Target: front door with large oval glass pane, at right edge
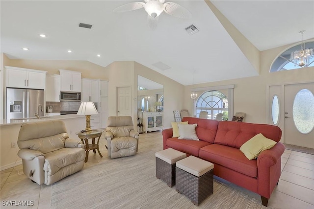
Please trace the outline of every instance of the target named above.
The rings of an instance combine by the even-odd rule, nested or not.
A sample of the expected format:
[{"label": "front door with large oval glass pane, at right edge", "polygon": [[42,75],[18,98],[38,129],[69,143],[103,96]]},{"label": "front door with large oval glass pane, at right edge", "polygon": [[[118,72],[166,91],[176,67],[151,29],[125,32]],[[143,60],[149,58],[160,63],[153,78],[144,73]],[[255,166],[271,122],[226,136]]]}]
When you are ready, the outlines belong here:
[{"label": "front door with large oval glass pane, at right edge", "polygon": [[285,85],[285,143],[314,148],[314,83]]}]

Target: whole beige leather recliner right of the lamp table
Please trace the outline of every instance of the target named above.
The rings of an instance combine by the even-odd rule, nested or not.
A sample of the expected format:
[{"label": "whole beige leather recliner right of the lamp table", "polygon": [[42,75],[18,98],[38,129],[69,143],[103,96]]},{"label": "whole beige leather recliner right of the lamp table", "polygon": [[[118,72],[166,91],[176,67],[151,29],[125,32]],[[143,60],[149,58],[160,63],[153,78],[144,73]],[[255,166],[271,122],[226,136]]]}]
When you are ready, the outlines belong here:
[{"label": "whole beige leather recliner right of the lamp table", "polygon": [[110,158],[120,158],[136,154],[139,134],[133,130],[131,116],[108,117],[105,130],[108,156]]}]

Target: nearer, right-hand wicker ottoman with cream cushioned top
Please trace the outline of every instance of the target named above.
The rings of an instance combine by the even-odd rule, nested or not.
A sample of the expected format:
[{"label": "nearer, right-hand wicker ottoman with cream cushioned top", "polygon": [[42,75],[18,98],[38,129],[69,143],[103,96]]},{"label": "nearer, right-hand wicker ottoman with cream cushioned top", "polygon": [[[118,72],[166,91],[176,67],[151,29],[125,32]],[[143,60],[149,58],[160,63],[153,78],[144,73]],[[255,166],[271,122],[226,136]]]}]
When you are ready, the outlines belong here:
[{"label": "nearer, right-hand wicker ottoman with cream cushioned top", "polygon": [[176,163],[176,190],[199,205],[213,193],[214,164],[189,156]]}]

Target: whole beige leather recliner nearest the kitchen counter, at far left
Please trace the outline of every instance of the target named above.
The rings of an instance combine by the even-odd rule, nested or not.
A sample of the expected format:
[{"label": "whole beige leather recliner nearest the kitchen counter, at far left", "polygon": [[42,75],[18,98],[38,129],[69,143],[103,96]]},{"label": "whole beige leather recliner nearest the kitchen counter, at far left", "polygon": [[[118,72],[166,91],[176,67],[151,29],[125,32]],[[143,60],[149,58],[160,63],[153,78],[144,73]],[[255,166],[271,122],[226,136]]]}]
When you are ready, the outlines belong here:
[{"label": "whole beige leather recliner nearest the kitchen counter, at far left", "polygon": [[39,185],[51,185],[84,166],[84,145],[69,139],[62,120],[22,124],[18,146],[24,174]]}]

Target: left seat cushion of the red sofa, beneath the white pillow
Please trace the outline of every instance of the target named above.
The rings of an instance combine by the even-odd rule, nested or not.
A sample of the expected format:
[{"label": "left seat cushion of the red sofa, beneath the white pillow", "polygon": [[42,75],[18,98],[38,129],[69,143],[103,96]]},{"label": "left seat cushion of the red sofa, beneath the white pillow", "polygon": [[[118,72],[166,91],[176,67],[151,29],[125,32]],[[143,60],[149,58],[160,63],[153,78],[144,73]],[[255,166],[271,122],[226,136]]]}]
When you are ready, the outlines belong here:
[{"label": "left seat cushion of the red sofa, beneath the white pillow", "polygon": [[187,153],[189,155],[198,156],[199,149],[201,147],[207,146],[211,143],[206,141],[195,141],[195,140],[182,140],[178,138],[170,138],[167,139],[167,147],[171,147],[173,149],[176,149],[178,151]]}]

